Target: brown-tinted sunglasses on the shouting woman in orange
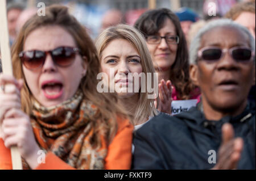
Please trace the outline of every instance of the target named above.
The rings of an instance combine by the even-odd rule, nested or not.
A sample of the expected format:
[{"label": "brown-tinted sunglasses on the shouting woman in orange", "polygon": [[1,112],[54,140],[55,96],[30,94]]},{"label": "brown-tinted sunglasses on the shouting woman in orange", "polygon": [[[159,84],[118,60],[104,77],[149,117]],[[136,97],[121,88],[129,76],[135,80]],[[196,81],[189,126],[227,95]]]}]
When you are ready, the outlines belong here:
[{"label": "brown-tinted sunglasses on the shouting woman in orange", "polygon": [[61,67],[67,67],[75,60],[76,53],[80,53],[79,48],[73,47],[57,47],[53,50],[28,50],[19,53],[19,58],[27,69],[35,70],[41,68],[46,61],[46,56],[49,53],[53,62]]}]

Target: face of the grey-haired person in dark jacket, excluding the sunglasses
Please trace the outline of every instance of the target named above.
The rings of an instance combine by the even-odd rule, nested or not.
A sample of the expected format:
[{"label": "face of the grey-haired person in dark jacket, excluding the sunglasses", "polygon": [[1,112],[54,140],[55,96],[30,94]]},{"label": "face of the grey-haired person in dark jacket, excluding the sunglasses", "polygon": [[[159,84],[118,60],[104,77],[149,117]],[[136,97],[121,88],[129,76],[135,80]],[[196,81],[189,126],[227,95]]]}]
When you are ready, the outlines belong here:
[{"label": "face of the grey-haired person in dark jacket, excluding the sunglasses", "polygon": [[[249,37],[229,27],[214,28],[205,33],[201,39],[201,48],[209,46],[221,49],[250,48]],[[203,104],[227,112],[246,106],[249,90],[255,84],[255,65],[252,59],[235,61],[226,52],[218,61],[209,62],[199,58],[192,69],[196,70],[192,79],[201,88]]]}]

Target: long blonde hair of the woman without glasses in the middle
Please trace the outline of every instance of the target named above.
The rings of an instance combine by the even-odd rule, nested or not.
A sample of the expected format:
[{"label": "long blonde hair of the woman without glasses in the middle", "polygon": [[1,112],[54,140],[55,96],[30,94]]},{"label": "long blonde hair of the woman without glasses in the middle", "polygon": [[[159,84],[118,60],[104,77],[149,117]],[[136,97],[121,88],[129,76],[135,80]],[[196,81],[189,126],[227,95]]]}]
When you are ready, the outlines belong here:
[{"label": "long blonde hair of the woman without glasses in the middle", "polygon": [[[109,27],[97,37],[96,48],[100,59],[102,51],[108,46],[110,41],[115,39],[127,40],[137,49],[139,56],[141,56],[142,72],[151,73],[151,77],[153,78],[155,69],[152,64],[150,52],[148,52],[146,42],[144,41],[141,33],[131,26],[119,24],[115,27]],[[153,81],[154,79],[152,79],[151,85],[154,85]],[[157,87],[154,87],[154,89],[157,89]],[[139,92],[139,101],[135,115],[130,115],[133,117],[132,122],[134,125],[144,123],[148,117],[152,117],[157,114],[154,107],[154,99],[148,99],[148,95],[149,93],[147,90],[146,92]]]}]

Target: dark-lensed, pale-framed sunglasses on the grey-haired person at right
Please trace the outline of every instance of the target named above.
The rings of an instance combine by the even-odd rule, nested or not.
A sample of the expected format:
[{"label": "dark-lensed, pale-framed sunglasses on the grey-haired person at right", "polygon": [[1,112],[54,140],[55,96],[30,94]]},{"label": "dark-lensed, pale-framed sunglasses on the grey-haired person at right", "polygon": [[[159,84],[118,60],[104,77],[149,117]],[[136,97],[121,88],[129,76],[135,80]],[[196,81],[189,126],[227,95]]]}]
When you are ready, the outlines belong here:
[{"label": "dark-lensed, pale-framed sunglasses on the grey-haired person at right", "polygon": [[230,56],[237,62],[250,61],[254,56],[254,51],[248,47],[233,47],[230,49],[221,49],[219,47],[205,47],[199,50],[197,56],[206,61],[218,61],[224,56],[226,52],[229,52]]}]

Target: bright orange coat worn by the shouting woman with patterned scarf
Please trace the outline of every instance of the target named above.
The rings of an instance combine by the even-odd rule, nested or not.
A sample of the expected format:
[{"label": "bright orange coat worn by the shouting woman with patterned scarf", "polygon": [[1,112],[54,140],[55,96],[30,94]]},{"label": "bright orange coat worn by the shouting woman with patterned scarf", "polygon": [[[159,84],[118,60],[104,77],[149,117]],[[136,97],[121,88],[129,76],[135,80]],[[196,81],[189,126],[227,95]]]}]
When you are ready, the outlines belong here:
[{"label": "bright orange coat worn by the shouting woman with patterned scarf", "polygon": [[[108,155],[105,158],[105,169],[107,170],[127,170],[131,167],[131,144],[133,139],[133,125],[129,120],[118,121],[118,131],[108,148]],[[10,170],[11,153],[0,138],[0,170]],[[46,154],[46,163],[40,163],[36,170],[73,170],[59,157],[49,151]]]}]

